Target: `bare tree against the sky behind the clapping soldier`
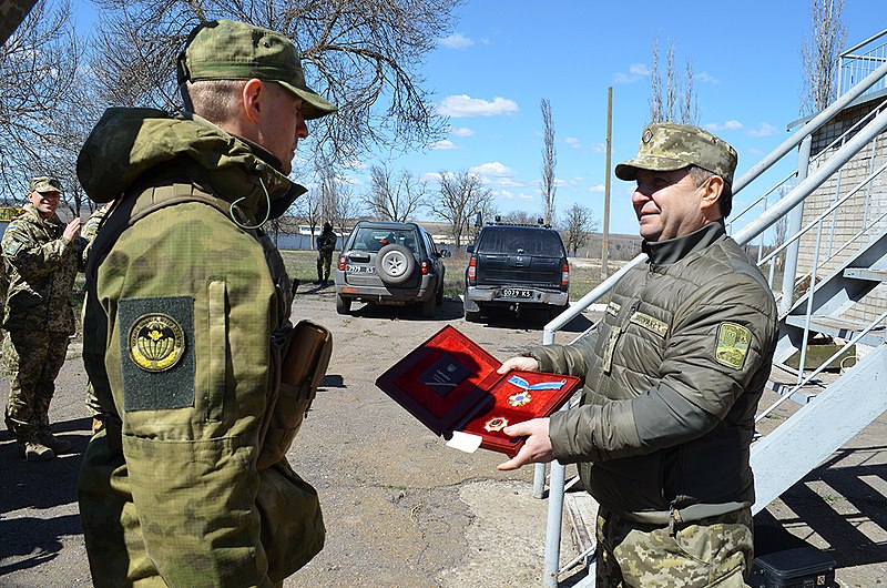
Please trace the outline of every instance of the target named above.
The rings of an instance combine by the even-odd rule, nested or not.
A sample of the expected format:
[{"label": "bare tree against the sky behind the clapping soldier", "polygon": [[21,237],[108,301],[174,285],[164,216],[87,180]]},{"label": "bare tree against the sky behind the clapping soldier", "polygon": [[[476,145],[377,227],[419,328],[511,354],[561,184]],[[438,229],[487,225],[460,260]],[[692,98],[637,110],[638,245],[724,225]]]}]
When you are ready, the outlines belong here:
[{"label": "bare tree against the sky behind the clapping soldier", "polygon": [[[0,47],[0,194],[18,201],[28,179],[53,175],[67,207],[79,212],[82,193],[74,161],[88,130],[79,80],[82,47],[67,0],[38,2]],[[72,197],[73,196],[73,197]]]}]

